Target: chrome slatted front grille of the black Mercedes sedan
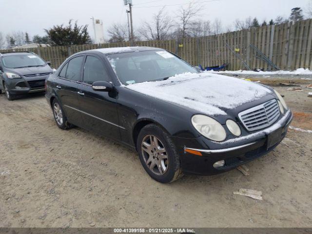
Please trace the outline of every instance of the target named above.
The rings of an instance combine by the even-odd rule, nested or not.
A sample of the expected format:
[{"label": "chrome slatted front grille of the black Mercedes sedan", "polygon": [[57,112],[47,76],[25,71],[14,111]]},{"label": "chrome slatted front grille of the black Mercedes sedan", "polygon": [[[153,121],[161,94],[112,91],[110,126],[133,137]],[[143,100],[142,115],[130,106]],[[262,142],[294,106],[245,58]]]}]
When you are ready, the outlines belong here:
[{"label": "chrome slatted front grille of the black Mercedes sedan", "polygon": [[256,131],[272,125],[279,113],[277,101],[273,99],[239,113],[238,117],[248,131]]}]

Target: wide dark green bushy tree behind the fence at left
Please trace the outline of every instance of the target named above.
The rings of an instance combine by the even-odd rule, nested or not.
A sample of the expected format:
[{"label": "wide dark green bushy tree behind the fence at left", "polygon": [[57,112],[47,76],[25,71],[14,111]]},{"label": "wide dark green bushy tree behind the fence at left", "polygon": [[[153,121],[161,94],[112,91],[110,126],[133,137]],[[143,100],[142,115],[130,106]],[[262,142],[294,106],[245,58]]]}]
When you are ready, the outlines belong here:
[{"label": "wide dark green bushy tree behind the fence at left", "polygon": [[45,29],[45,32],[51,45],[82,45],[92,42],[88,33],[88,25],[78,26],[77,21],[72,25],[72,20],[69,20],[68,26],[56,25]]}]

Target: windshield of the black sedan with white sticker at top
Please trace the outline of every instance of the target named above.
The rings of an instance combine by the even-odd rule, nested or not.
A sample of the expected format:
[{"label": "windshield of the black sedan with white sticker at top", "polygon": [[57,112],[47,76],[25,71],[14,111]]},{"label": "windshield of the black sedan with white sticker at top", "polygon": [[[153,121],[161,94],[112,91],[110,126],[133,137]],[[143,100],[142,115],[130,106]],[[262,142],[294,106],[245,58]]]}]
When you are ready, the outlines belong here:
[{"label": "windshield of the black sedan with white sticker at top", "polygon": [[125,84],[163,80],[198,71],[187,62],[165,51],[139,51],[107,55],[117,77]]}]

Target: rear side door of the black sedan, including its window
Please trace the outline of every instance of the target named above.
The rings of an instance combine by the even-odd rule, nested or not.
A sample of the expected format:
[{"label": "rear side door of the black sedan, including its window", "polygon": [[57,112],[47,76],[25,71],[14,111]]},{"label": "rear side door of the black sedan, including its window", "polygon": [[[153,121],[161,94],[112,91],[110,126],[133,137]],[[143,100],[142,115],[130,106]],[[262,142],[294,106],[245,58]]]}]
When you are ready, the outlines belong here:
[{"label": "rear side door of the black sedan, including its window", "polygon": [[56,93],[61,102],[62,108],[68,121],[72,124],[81,126],[82,117],[79,112],[78,82],[81,80],[81,68],[84,56],[77,56],[70,59],[61,69]]}]

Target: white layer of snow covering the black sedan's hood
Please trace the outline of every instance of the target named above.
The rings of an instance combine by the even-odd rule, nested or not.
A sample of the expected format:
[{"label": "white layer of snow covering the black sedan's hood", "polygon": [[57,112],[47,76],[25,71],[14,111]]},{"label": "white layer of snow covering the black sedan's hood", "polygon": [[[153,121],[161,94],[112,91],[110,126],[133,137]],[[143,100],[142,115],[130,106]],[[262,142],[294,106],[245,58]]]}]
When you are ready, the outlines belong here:
[{"label": "white layer of snow covering the black sedan's hood", "polygon": [[234,109],[272,93],[268,88],[251,81],[203,73],[184,73],[167,80],[130,84],[125,87],[210,116],[226,115],[220,108]]}]

